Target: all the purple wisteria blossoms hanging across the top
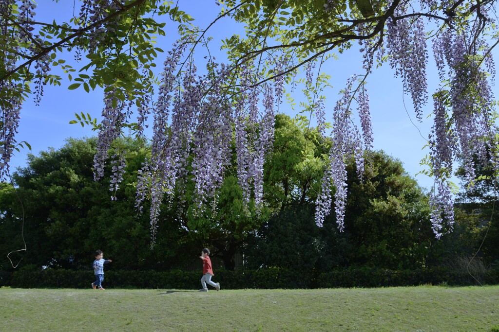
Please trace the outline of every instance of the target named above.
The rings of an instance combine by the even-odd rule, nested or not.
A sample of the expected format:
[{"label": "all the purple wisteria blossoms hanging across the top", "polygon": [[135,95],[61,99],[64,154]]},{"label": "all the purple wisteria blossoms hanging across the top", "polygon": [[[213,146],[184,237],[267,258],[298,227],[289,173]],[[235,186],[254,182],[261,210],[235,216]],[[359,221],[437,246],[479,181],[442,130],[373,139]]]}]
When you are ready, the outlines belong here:
[{"label": "all the purple wisteria blossoms hanging across the top", "polygon": [[[236,15],[238,10],[246,14],[243,9],[250,5],[248,1],[215,2],[227,5],[230,9],[226,11],[228,16]],[[286,2],[281,1],[280,5]],[[139,14],[139,10],[143,10],[146,5],[155,11],[164,10],[153,0],[83,0],[81,3],[74,29],[83,29],[85,33],[76,34],[74,42],[66,45],[76,50],[76,57],[80,60],[82,54],[98,52],[99,45],[110,46],[110,42],[117,40],[109,37],[118,27],[120,16],[117,13],[131,8]],[[432,104],[428,103],[430,92],[426,76],[429,58],[427,44],[431,43],[440,77],[439,88],[432,92],[435,122],[428,138],[429,165],[431,175],[436,179],[430,201],[431,220],[437,237],[452,230],[454,217],[448,179],[452,175],[453,162],[456,159],[463,162],[470,183],[475,178],[475,155],[480,162],[492,163],[495,167],[498,165],[492,90],[495,67],[491,52],[498,44],[495,3],[495,0],[377,1],[373,3],[376,11],[374,16],[361,17],[356,14],[355,8],[351,8],[354,16],[347,18],[344,17],[346,13],[340,10],[343,5],[341,1],[324,0],[320,10],[330,15],[332,20],[349,25],[334,33],[324,31],[324,36],[329,37],[321,39],[318,36],[313,42],[320,44],[319,41],[323,40],[323,44],[316,49],[327,50],[331,44],[339,47],[358,40],[364,56],[365,73],[352,76],[347,81],[331,112],[332,116],[327,116],[322,97],[317,96],[313,105],[319,131],[324,131],[326,121],[332,122],[330,135],[333,141],[317,199],[318,225],[322,224],[334,206],[338,227],[344,227],[348,191],[345,164],[348,158],[355,159],[358,176],[362,178],[363,154],[372,146],[367,81],[375,61],[379,64],[389,62],[395,76],[402,79],[404,91],[411,96],[417,118],[422,118],[427,105]],[[292,8],[292,3],[287,6]],[[30,0],[0,0],[1,33],[17,43],[12,46],[3,39],[0,42],[3,51],[0,59],[4,66],[0,73],[2,180],[8,173],[10,158],[17,143],[15,133],[24,95],[33,94],[34,100],[40,101],[52,64],[45,52],[47,47],[41,43],[40,35],[35,33],[35,8],[34,2]],[[275,11],[272,17],[278,19],[277,13]],[[111,17],[113,19],[107,19]],[[98,20],[105,24],[92,23]],[[429,26],[432,32],[427,31]],[[153,241],[160,204],[165,194],[171,197],[176,192],[182,201],[186,181],[194,181],[196,213],[202,213],[210,201],[216,202],[225,169],[231,163],[233,134],[237,174],[244,200],[246,204],[254,200],[256,207],[263,204],[263,163],[271,149],[273,118],[283,100],[284,80],[295,74],[295,69],[308,63],[305,74],[306,80],[311,81],[314,68],[311,64],[322,53],[317,52],[296,65],[290,58],[291,53],[286,53],[290,45],[265,49],[263,42],[258,51],[260,53],[255,54],[260,54],[260,59],[265,52],[270,55],[265,58],[266,65],[272,67],[270,77],[261,74],[260,63],[252,55],[253,52],[242,54],[238,61],[225,65],[208,59],[209,73],[200,75],[192,53],[186,58],[186,50],[196,44],[195,38],[186,37],[168,53],[155,104],[148,91],[140,90],[144,89],[140,85],[128,91],[109,86],[104,98],[99,147],[94,159],[96,179],[103,175],[112,141],[119,136],[124,123],[128,121],[131,104],[127,98],[134,94],[142,96],[137,103],[139,131],[143,131],[151,113],[154,118],[152,156],[139,171],[137,184],[137,207],[141,209],[144,199],[151,200]],[[295,47],[301,45],[308,45],[307,41],[297,42]],[[111,47],[102,49],[107,56],[114,56]],[[23,59],[31,59],[29,63],[34,63],[33,69],[27,68],[30,76],[16,76],[21,72],[16,67],[17,62]],[[141,67],[144,73],[147,67]],[[34,88],[30,87],[30,81]],[[351,119],[355,106],[361,119],[360,128]],[[124,172],[122,151],[115,151],[112,159],[110,189],[116,191]]]}]

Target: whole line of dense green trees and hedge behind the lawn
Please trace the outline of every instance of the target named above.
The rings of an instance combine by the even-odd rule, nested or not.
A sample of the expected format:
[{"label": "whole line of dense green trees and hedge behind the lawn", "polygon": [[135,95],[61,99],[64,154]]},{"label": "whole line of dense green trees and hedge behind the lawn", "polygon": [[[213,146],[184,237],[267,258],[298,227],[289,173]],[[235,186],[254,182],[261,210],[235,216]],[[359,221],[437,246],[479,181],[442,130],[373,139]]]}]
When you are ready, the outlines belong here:
[{"label": "whole line of dense green trees and hedge behind the lawn", "polygon": [[[259,287],[264,276],[274,278],[273,273],[280,273],[278,279],[289,285],[294,285],[294,277],[284,277],[286,273],[310,278],[303,283],[305,288],[474,283],[469,275],[497,282],[497,273],[491,271],[496,271],[499,262],[499,231],[497,221],[490,219],[495,216],[491,202],[485,199],[472,204],[462,194],[454,230],[437,240],[431,230],[427,193],[407,175],[400,161],[382,151],[365,153],[362,181],[355,162],[348,164],[344,232],[337,229],[334,206],[318,227],[314,204],[320,191],[321,156],[330,141],[307,127],[285,115],[277,116],[274,149],[264,168],[262,211],[256,212],[251,203],[249,208],[243,204],[236,171],[228,171],[216,209],[196,214],[194,191],[189,186],[163,202],[152,249],[150,203],[144,201],[143,214],[135,206],[137,171],[149,154],[147,144],[132,138],[115,142],[116,148],[133,151],[126,154],[126,173],[116,200],[111,200],[114,193],[109,183],[112,165],[105,170],[107,178],[93,181],[95,138],[68,139],[58,150],[30,155],[26,167],[13,174],[14,185],[0,185],[0,271],[4,280],[16,287],[30,287],[43,285],[42,279],[51,280],[50,271],[64,271],[61,283],[66,282],[67,274],[73,279],[68,285],[80,287],[81,281],[81,287],[86,287],[93,252],[101,249],[104,258],[113,260],[106,266],[110,273],[107,278],[106,270],[106,284],[166,287],[170,285],[164,284],[166,281],[145,284],[140,280],[146,277],[140,276],[167,273],[151,280],[174,280],[169,273],[179,273],[186,284],[181,281],[178,287],[184,288],[193,278],[198,282],[197,272],[191,275],[190,271],[199,263],[201,249],[209,247],[212,259],[223,263],[216,266],[221,276],[217,280],[234,288],[244,284]],[[207,206],[213,205],[208,202]],[[23,249],[23,240],[26,250],[9,255],[14,265],[20,262],[14,269],[7,254]],[[27,280],[20,272],[23,269],[36,271],[32,284],[22,284]],[[232,270],[236,272],[228,272]],[[74,271],[73,277],[69,271]],[[248,271],[267,272],[251,272],[258,275],[251,281],[257,284],[248,284],[246,279],[231,281],[233,277],[240,280]],[[491,277],[487,277],[489,272]],[[263,288],[284,281],[275,282],[269,281]],[[64,285],[50,283],[47,287]]]}]

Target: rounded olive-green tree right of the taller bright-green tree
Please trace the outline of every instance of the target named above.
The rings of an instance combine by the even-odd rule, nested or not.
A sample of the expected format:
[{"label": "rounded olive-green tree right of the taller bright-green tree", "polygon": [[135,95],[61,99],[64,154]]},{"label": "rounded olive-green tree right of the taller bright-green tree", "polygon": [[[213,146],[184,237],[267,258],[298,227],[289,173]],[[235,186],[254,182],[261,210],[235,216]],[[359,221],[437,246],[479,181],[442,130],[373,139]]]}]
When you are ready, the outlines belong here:
[{"label": "rounded olive-green tree right of the taller bright-green tree", "polygon": [[[364,181],[354,178],[348,183],[348,233],[355,248],[351,262],[386,268],[427,266],[435,243],[427,196],[399,160],[383,152],[366,160]],[[352,166],[347,170],[353,177]]]}]

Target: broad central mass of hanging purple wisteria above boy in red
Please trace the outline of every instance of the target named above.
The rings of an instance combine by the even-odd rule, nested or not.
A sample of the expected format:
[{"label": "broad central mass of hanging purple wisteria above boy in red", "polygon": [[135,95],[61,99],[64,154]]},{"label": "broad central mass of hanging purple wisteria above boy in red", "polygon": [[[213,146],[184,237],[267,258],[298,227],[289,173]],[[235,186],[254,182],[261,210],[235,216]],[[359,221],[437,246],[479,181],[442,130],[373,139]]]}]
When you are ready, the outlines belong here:
[{"label": "broad central mass of hanging purple wisteria above boy in red", "polygon": [[256,209],[261,208],[263,163],[273,141],[274,100],[282,98],[282,79],[276,80],[275,88],[252,86],[250,70],[243,71],[237,98],[229,98],[229,68],[213,60],[205,75],[198,74],[192,60],[185,62],[179,80],[175,74],[186,47],[178,43],[168,52],[153,110],[152,155],[139,171],[137,207],[141,210],[144,199],[150,198],[153,244],[165,194],[167,199],[179,196],[182,214],[187,182],[192,181],[194,216],[206,211],[210,201],[210,208],[216,209],[218,190],[231,166],[233,128],[244,200],[250,204],[253,198]]}]

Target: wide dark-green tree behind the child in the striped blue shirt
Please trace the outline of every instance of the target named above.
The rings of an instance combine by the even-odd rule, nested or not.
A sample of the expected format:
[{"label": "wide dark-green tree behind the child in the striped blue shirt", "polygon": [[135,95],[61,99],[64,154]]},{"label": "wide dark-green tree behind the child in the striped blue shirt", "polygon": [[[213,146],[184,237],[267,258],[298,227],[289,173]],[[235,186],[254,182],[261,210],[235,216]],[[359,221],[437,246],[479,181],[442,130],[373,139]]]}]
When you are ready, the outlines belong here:
[{"label": "wide dark-green tree behind the child in the striped blue shirt", "polygon": [[[136,171],[147,151],[139,141],[121,140],[127,154],[128,172],[113,194],[109,184],[93,181],[89,165],[95,154],[95,138],[68,139],[60,149],[30,155],[27,166],[13,174],[16,190],[0,190],[1,251],[12,253],[14,265],[89,269],[96,249],[112,257],[116,269],[170,269],[185,267],[197,257],[187,232],[172,216],[162,215],[160,244],[150,250],[149,219],[135,208]],[[106,173],[110,174],[111,169]],[[111,201],[110,197],[115,197]],[[24,221],[22,223],[22,221]],[[23,227],[23,233],[21,233]],[[10,263],[2,256],[2,267]]]}]

